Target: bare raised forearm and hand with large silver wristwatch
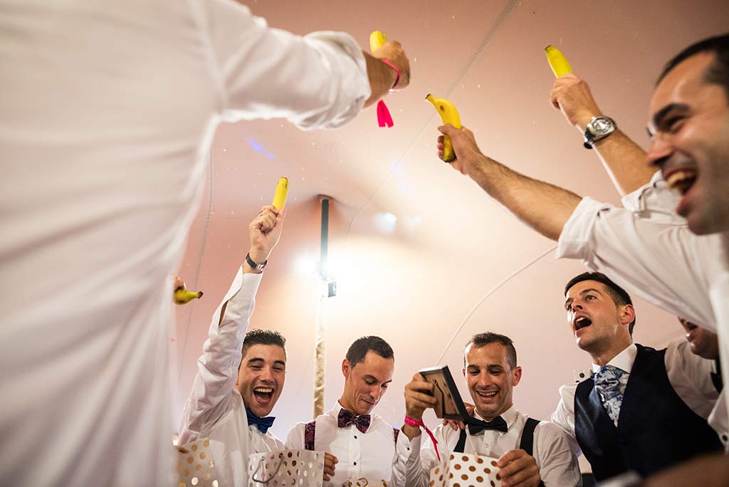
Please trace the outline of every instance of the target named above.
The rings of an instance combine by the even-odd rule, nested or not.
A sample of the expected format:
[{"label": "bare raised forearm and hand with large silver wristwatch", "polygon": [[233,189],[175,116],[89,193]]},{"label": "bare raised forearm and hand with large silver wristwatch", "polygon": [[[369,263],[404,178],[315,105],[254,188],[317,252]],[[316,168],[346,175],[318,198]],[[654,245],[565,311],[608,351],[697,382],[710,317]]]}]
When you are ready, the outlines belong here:
[{"label": "bare raised forearm and hand with large silver wristwatch", "polygon": [[[605,114],[590,93],[584,79],[574,74],[564,74],[557,78],[550,93],[550,102],[555,109],[564,114],[565,119],[580,135],[592,117]],[[596,141],[593,150],[612,179],[621,196],[642,187],[650,181],[655,170],[645,163],[645,151],[623,133],[620,128],[605,139]]]}]

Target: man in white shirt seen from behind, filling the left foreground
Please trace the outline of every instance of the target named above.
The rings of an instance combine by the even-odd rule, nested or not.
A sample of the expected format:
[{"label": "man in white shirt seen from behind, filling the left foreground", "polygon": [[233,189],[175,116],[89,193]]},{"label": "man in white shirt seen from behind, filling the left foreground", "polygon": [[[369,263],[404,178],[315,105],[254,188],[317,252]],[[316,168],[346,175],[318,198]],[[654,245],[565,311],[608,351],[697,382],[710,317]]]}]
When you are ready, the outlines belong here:
[{"label": "man in white shirt seen from behind, filling the left foreground", "polygon": [[[168,276],[217,123],[338,127],[398,74],[348,34],[295,36],[232,0],[0,11],[0,484],[163,486]],[[408,85],[399,44],[375,56]]]}]

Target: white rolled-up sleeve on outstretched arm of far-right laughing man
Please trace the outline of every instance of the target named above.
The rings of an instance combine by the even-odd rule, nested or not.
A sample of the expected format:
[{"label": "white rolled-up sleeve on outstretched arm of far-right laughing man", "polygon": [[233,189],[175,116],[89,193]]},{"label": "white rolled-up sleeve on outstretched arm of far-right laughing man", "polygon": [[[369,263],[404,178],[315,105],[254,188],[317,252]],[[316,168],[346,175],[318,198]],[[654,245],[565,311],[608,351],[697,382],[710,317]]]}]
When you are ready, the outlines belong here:
[{"label": "white rolled-up sleeve on outstretched arm of far-right laughing man", "polygon": [[720,254],[712,235],[583,198],[562,229],[556,257],[580,259],[628,292],[716,330],[709,284]]}]

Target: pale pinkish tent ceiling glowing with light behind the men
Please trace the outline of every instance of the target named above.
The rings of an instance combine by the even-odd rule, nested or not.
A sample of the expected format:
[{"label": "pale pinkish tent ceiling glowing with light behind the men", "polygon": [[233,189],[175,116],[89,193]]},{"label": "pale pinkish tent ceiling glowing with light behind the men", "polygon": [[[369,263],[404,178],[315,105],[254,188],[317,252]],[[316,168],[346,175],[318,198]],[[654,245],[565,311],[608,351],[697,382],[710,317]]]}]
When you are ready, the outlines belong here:
[{"label": "pale pinkish tent ceiling glowing with light behind the men", "polygon": [[[544,47],[559,47],[604,112],[644,145],[647,101],[660,67],[690,42],[726,31],[729,2],[246,3],[273,27],[296,34],[347,31],[365,48],[370,31],[379,29],[402,42],[412,82],[387,98],[391,129],[377,127],[374,107],[326,132],[301,132],[279,120],[219,127],[180,270],[188,287],[205,296],[177,310],[177,418],[211,314],[248,249],[247,225],[270,203],[279,176],[289,177],[289,214],[251,323],[288,340],[286,387],[273,410],[276,435],[285,437],[296,421],[311,419],[317,300],[300,262],[316,262],[319,254],[320,194],[334,198],[330,252],[340,262],[338,296],[325,310],[327,407],[341,392],[346,348],[361,335],[380,335],[394,348],[394,382],[377,410],[399,425],[402,387],[413,373],[445,364],[460,373],[463,344],[491,330],[515,340],[524,370],[517,408],[548,418],[558,386],[589,366],[562,308],[564,283],[584,269],[580,262],[555,261],[552,241],[435,157],[440,119],[424,98],[451,99],[486,154],[619,204],[595,155],[548,103],[554,78]],[[674,317],[640,301],[636,309],[636,341],[661,346],[682,335]],[[467,397],[462,383],[461,394]]]}]

